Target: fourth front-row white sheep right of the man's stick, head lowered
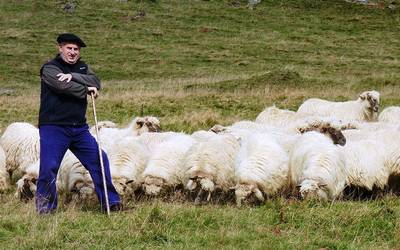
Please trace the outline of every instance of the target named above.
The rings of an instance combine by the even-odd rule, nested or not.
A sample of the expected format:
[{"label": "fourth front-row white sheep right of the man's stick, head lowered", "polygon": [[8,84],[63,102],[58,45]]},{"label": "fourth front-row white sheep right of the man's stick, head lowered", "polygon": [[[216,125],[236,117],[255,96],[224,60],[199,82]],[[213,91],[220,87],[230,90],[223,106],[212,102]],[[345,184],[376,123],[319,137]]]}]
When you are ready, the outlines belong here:
[{"label": "fourth front-row white sheep right of the man's stick, head lowered", "polygon": [[236,204],[255,194],[259,201],[287,183],[288,155],[268,133],[253,133],[241,140],[235,163]]}]

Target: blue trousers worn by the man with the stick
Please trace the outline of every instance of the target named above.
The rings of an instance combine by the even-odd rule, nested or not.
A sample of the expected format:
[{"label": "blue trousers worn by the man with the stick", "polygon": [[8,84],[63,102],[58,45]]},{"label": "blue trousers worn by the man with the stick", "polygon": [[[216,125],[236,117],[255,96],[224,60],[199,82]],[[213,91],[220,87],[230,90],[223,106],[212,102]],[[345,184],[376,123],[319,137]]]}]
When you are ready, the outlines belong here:
[{"label": "blue trousers worn by the man with the stick", "polygon": [[[67,152],[71,152],[89,171],[103,211],[106,208],[103,177],[101,173],[97,142],[89,133],[88,125],[63,126],[41,125],[40,134],[40,170],[36,189],[36,210],[38,213],[50,213],[57,208],[57,172]],[[108,200],[110,206],[119,204],[120,198],[111,181],[107,155],[102,151]]]}]

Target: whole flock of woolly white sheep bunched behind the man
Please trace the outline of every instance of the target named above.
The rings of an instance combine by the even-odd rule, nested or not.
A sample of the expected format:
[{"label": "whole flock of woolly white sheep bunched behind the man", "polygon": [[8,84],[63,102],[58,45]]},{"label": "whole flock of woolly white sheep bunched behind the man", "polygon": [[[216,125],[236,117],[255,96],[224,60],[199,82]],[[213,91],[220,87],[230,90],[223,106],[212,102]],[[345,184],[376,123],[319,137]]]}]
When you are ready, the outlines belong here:
[{"label": "whole flock of woolly white sheep bunched behind the man", "polygon": [[[400,107],[379,112],[379,104],[377,91],[344,102],[312,98],[297,111],[270,106],[254,121],[192,134],[161,132],[152,116],[135,117],[126,127],[102,121],[99,138],[123,202],[159,197],[241,206],[277,195],[334,201],[354,198],[352,190],[393,192],[390,179],[400,176]],[[0,146],[0,195],[16,185],[16,199],[32,200],[38,128],[12,123]],[[56,182],[65,201],[96,202],[88,171],[69,151]]]}]

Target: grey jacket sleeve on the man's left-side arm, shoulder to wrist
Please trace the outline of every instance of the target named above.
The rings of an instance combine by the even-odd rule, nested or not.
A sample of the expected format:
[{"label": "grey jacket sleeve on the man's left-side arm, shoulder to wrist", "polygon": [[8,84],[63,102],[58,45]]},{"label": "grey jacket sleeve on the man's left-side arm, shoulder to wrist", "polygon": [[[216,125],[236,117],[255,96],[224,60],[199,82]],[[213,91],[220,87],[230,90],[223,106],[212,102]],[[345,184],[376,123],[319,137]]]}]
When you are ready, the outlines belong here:
[{"label": "grey jacket sleeve on the man's left-side arm, shoulder to wrist", "polygon": [[57,74],[63,73],[58,67],[54,65],[43,66],[41,78],[49,88],[59,94],[73,96],[79,99],[86,98],[87,86],[83,83],[74,81],[69,82],[59,81]]}]

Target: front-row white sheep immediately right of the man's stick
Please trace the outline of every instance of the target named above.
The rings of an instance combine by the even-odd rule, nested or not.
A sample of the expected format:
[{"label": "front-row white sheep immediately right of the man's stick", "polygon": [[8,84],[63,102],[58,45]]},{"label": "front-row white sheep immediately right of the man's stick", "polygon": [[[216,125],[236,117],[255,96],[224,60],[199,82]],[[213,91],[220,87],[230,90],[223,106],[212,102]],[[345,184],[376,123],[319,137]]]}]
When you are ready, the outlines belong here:
[{"label": "front-row white sheep immediately right of the man's stick", "polygon": [[124,199],[132,197],[141,186],[141,175],[150,157],[150,150],[137,137],[122,139],[108,153],[112,182]]}]

